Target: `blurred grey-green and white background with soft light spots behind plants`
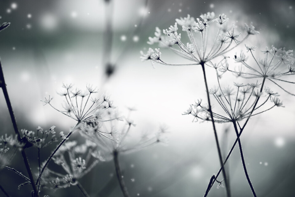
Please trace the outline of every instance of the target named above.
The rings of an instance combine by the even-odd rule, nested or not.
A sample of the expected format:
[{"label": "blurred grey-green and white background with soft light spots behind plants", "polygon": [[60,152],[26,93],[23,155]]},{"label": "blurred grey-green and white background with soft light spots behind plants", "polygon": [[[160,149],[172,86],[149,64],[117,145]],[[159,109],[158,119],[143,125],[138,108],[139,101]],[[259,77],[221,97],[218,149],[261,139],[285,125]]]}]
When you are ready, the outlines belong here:
[{"label": "blurred grey-green and white background with soft light spots behind plants", "polygon": [[[210,177],[219,169],[214,133],[210,122],[195,123],[182,115],[196,99],[206,98],[202,70],[158,64],[154,69],[150,62],[140,61],[140,50],[145,52],[150,47],[148,37],[154,35],[156,26],[166,29],[174,25],[175,18],[187,14],[197,18],[212,11],[217,16],[226,14],[229,26],[234,23],[238,32],[243,32],[244,23],[253,22],[260,34],[245,43],[257,46],[258,52],[272,44],[294,49],[294,9],[291,0],[1,0],[0,22],[11,25],[0,34],[0,57],[18,127],[35,130],[37,126],[55,125],[58,132],[68,132],[74,122],[43,106],[40,99],[52,95],[52,102],[58,105],[56,91],[62,83],[74,83],[79,88],[94,84],[100,93],[111,95],[120,114],[126,114],[127,107],[136,108],[131,114],[135,133],[157,130],[161,124],[170,132],[167,145],[119,157],[131,196],[203,196]],[[228,56],[241,49],[243,44]],[[169,50],[162,50],[162,56],[168,62],[181,62]],[[207,70],[212,87],[216,85],[214,70]],[[290,85],[289,90],[292,88]],[[248,173],[258,196],[295,196],[295,97],[279,93],[285,108],[251,118],[241,136]],[[13,133],[2,94],[0,111],[0,135]],[[219,139],[223,139],[227,126],[218,125]],[[71,139],[79,141],[81,136],[76,133]],[[234,140],[234,130],[229,130],[228,144],[222,143],[224,153]],[[28,152],[29,159],[37,161],[36,153]],[[42,155],[43,160],[48,154]],[[226,165],[233,196],[251,196],[238,149]],[[20,154],[10,166],[26,172]],[[37,172],[37,163],[31,162],[31,166]],[[12,196],[24,196],[31,190],[29,185],[18,190],[22,180],[12,172],[0,173],[0,184]],[[114,174],[112,162],[100,163],[81,184],[91,196],[98,196],[113,181],[112,189],[100,195],[122,196]],[[41,196],[79,196],[78,192],[70,187],[43,190]],[[225,189],[214,185],[209,196],[225,196]]]}]

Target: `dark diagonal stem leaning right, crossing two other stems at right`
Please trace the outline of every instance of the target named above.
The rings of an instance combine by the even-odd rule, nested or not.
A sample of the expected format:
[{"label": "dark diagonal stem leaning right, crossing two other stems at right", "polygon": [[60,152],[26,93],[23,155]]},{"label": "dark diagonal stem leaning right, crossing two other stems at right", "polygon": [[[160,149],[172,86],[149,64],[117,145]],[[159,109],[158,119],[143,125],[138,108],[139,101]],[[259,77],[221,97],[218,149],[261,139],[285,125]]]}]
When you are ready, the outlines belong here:
[{"label": "dark diagonal stem leaning right, crossing two other stems at right", "polygon": [[[261,85],[261,88],[260,88],[260,93],[261,93],[262,90],[263,90],[264,82],[265,82],[265,77],[263,78],[263,81],[262,81],[262,85]],[[251,117],[251,115],[252,115],[252,113],[253,113],[253,111],[254,111],[254,109],[255,109],[257,103],[258,103],[259,98],[260,98],[260,96],[258,96],[258,98],[257,98],[257,100],[256,100],[256,102],[255,102],[255,104],[254,104],[254,106],[253,106],[253,108],[252,108],[252,110],[251,110],[251,112],[250,112],[250,116],[248,116],[246,122],[244,123],[244,126],[240,129],[240,133],[238,134],[237,139],[235,140],[234,144],[232,145],[232,147],[231,147],[231,149],[230,149],[230,152],[227,154],[226,159],[225,159],[224,162],[223,162],[223,165],[226,164],[228,158],[230,157],[230,154],[231,154],[231,153],[233,152],[233,150],[234,150],[235,145],[237,144],[238,140],[240,139],[240,136],[242,135],[242,132],[243,132],[243,130],[245,129],[245,126],[246,126],[247,122],[249,121],[249,119],[250,119],[250,117]],[[219,176],[219,174],[220,174],[221,171],[222,171],[222,168],[219,169],[218,173],[216,174],[216,178]],[[213,186],[214,183],[215,183],[215,180],[213,180],[212,183],[209,182],[204,197],[207,196],[208,192],[210,191],[210,189],[212,188],[212,186]]]}]

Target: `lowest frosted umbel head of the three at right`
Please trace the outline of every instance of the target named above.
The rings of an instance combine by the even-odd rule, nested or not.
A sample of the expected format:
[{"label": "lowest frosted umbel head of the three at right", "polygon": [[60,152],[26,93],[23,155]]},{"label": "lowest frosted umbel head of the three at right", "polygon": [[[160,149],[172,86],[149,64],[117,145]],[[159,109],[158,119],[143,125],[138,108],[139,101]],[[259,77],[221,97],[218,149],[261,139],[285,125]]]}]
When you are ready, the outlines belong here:
[{"label": "lowest frosted umbel head of the three at right", "polygon": [[[260,85],[261,84],[258,83],[251,83],[247,85],[234,83],[235,88],[227,87],[223,90],[219,88],[211,89],[209,91],[210,95],[214,97],[215,101],[220,106],[219,109],[213,109],[212,111],[214,122],[223,123],[242,121],[244,118],[249,118],[268,111],[274,106],[282,106],[282,102],[278,98],[278,93],[266,88],[265,100],[258,103],[257,107],[255,107],[253,111],[254,114],[252,114],[252,107],[254,106],[254,103],[257,101],[258,97],[262,96],[258,90]],[[271,102],[273,102],[273,104],[270,104]],[[198,119],[203,121],[212,121],[208,107],[202,104],[202,101],[199,100],[198,102],[195,102],[195,104],[190,105],[189,109],[183,114],[191,114],[194,117],[193,121],[198,121]]]}]

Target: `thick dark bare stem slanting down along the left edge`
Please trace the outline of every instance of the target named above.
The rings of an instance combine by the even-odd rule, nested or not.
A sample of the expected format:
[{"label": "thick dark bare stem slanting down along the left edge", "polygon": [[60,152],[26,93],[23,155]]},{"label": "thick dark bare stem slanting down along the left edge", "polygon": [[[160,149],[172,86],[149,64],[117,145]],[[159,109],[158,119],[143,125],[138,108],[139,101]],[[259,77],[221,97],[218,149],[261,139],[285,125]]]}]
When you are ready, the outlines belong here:
[{"label": "thick dark bare stem slanting down along the left edge", "polygon": [[[4,95],[4,98],[5,98],[5,101],[6,101],[6,105],[8,107],[8,111],[9,111],[9,114],[10,114],[10,119],[11,119],[11,122],[12,122],[14,132],[18,136],[18,141],[21,142],[22,141],[21,135],[20,135],[19,130],[18,130],[18,125],[16,123],[16,119],[14,117],[13,109],[12,109],[11,102],[10,102],[8,92],[7,92],[7,89],[6,89],[6,84],[5,84],[5,80],[4,80],[4,74],[3,74],[3,70],[2,70],[1,61],[0,61],[0,86],[2,87],[3,95]],[[28,160],[26,152],[25,152],[25,149],[21,149],[21,153],[22,153],[22,158],[23,158],[25,166],[26,166],[26,170],[27,170],[27,172],[29,174],[29,179],[30,179],[30,181],[32,183],[31,185],[33,187],[34,195],[39,196],[39,194],[37,192],[37,187],[35,185],[34,177],[33,177],[33,174],[32,174],[31,168],[30,168],[29,160]]]}]

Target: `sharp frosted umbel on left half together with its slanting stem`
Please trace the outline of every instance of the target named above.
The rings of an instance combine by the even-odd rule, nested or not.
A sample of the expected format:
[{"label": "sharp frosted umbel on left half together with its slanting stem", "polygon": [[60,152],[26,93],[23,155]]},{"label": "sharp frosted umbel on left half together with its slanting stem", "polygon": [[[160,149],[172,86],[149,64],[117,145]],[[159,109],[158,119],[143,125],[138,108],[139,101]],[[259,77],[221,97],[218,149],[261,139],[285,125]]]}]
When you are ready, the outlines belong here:
[{"label": "sharp frosted umbel on left half together with its slanting stem", "polygon": [[[78,90],[77,88],[74,91],[71,91],[71,89],[73,88],[72,84],[63,84],[62,87],[64,88],[64,90],[58,94],[65,98],[65,102],[62,105],[64,110],[58,110],[56,107],[54,107],[51,104],[51,101],[53,98],[50,97],[50,95],[48,96],[48,98],[45,97],[45,99],[41,101],[45,103],[44,105],[48,104],[54,110],[57,110],[58,112],[66,115],[67,117],[76,120],[77,124],[66,136],[64,136],[64,139],[61,141],[61,143],[57,146],[57,148],[51,153],[49,158],[45,161],[45,164],[43,165],[41,169],[40,176],[37,179],[37,183],[40,181],[40,177],[42,173],[44,172],[45,168],[47,167],[47,165],[49,164],[49,161],[52,159],[52,157],[55,155],[58,149],[65,143],[65,141],[69,139],[70,135],[77,128],[79,128],[79,126],[84,125],[89,128],[95,129],[92,126],[90,126],[91,125],[90,123],[120,120],[120,117],[118,117],[116,113],[113,113],[112,117],[109,119],[103,119],[104,113],[106,113],[109,109],[112,109],[115,107],[112,104],[113,102],[109,100],[109,98],[106,95],[102,95],[101,98],[91,97],[92,95],[95,95],[95,93],[98,92],[97,88],[87,85],[86,86],[87,91],[82,92],[81,90]],[[115,139],[113,139],[111,136],[108,137],[105,132],[99,131],[96,129],[95,131],[99,135],[103,136],[104,138],[107,138],[108,140],[111,140],[111,141],[115,141]]]}]

